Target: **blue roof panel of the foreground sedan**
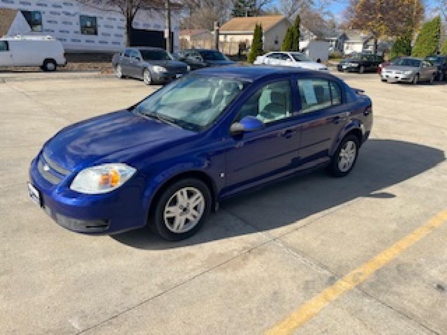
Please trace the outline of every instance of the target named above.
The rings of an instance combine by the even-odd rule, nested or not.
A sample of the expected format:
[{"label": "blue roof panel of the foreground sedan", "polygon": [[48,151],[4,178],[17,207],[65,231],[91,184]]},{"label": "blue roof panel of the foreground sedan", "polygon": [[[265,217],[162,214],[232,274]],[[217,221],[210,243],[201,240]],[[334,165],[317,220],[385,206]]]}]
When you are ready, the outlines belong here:
[{"label": "blue roof panel of the foreground sedan", "polygon": [[206,67],[194,71],[200,75],[212,75],[231,77],[241,80],[257,80],[267,75],[286,74],[286,73],[317,73],[314,70],[299,68],[299,67],[281,67],[281,66],[264,66],[264,65],[238,65],[226,67]]}]

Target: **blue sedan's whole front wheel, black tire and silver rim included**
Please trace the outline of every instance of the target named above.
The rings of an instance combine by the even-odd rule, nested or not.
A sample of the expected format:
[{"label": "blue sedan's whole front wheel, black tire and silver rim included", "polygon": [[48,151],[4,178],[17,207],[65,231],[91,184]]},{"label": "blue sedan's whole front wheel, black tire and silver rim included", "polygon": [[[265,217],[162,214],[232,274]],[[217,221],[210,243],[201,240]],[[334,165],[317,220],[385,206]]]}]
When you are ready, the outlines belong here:
[{"label": "blue sedan's whole front wheel, black tire and silver rim included", "polygon": [[[186,200],[179,203],[181,198]],[[193,207],[194,200],[198,204]],[[210,214],[211,204],[210,190],[201,180],[179,180],[166,188],[156,200],[149,227],[168,241],[187,239],[203,226]],[[198,220],[194,222],[196,217]]]}]

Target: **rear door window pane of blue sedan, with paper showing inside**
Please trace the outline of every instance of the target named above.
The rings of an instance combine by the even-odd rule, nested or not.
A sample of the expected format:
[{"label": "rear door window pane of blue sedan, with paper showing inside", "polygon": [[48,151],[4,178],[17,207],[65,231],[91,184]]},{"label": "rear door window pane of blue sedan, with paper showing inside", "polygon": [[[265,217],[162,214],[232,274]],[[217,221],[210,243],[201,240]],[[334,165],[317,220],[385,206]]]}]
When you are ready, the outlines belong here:
[{"label": "rear door window pane of blue sedan, with paper showing inside", "polygon": [[332,105],[329,82],[321,79],[298,80],[300,114],[312,113]]}]

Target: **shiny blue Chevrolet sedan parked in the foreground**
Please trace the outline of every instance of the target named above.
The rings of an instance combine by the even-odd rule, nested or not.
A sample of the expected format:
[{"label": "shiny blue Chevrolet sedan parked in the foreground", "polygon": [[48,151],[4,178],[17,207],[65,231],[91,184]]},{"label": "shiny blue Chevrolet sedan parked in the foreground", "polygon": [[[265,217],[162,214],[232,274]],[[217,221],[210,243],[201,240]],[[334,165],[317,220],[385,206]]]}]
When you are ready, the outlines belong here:
[{"label": "shiny blue Chevrolet sedan parked in the foreground", "polygon": [[327,73],[217,67],[49,139],[30,197],[60,226],[196,233],[225,198],[325,166],[346,176],[372,126],[371,100]]}]

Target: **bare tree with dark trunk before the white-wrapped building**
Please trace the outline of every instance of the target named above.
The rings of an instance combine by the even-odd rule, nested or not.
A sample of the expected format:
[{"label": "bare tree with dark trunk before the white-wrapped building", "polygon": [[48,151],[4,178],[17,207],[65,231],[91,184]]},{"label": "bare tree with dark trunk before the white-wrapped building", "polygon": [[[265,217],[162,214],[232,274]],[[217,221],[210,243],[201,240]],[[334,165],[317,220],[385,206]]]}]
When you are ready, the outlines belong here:
[{"label": "bare tree with dark trunk before the white-wrapped building", "polygon": [[140,10],[152,10],[165,15],[163,0],[78,0],[78,2],[90,8],[122,14],[126,19],[126,46],[131,44],[132,24]]}]

